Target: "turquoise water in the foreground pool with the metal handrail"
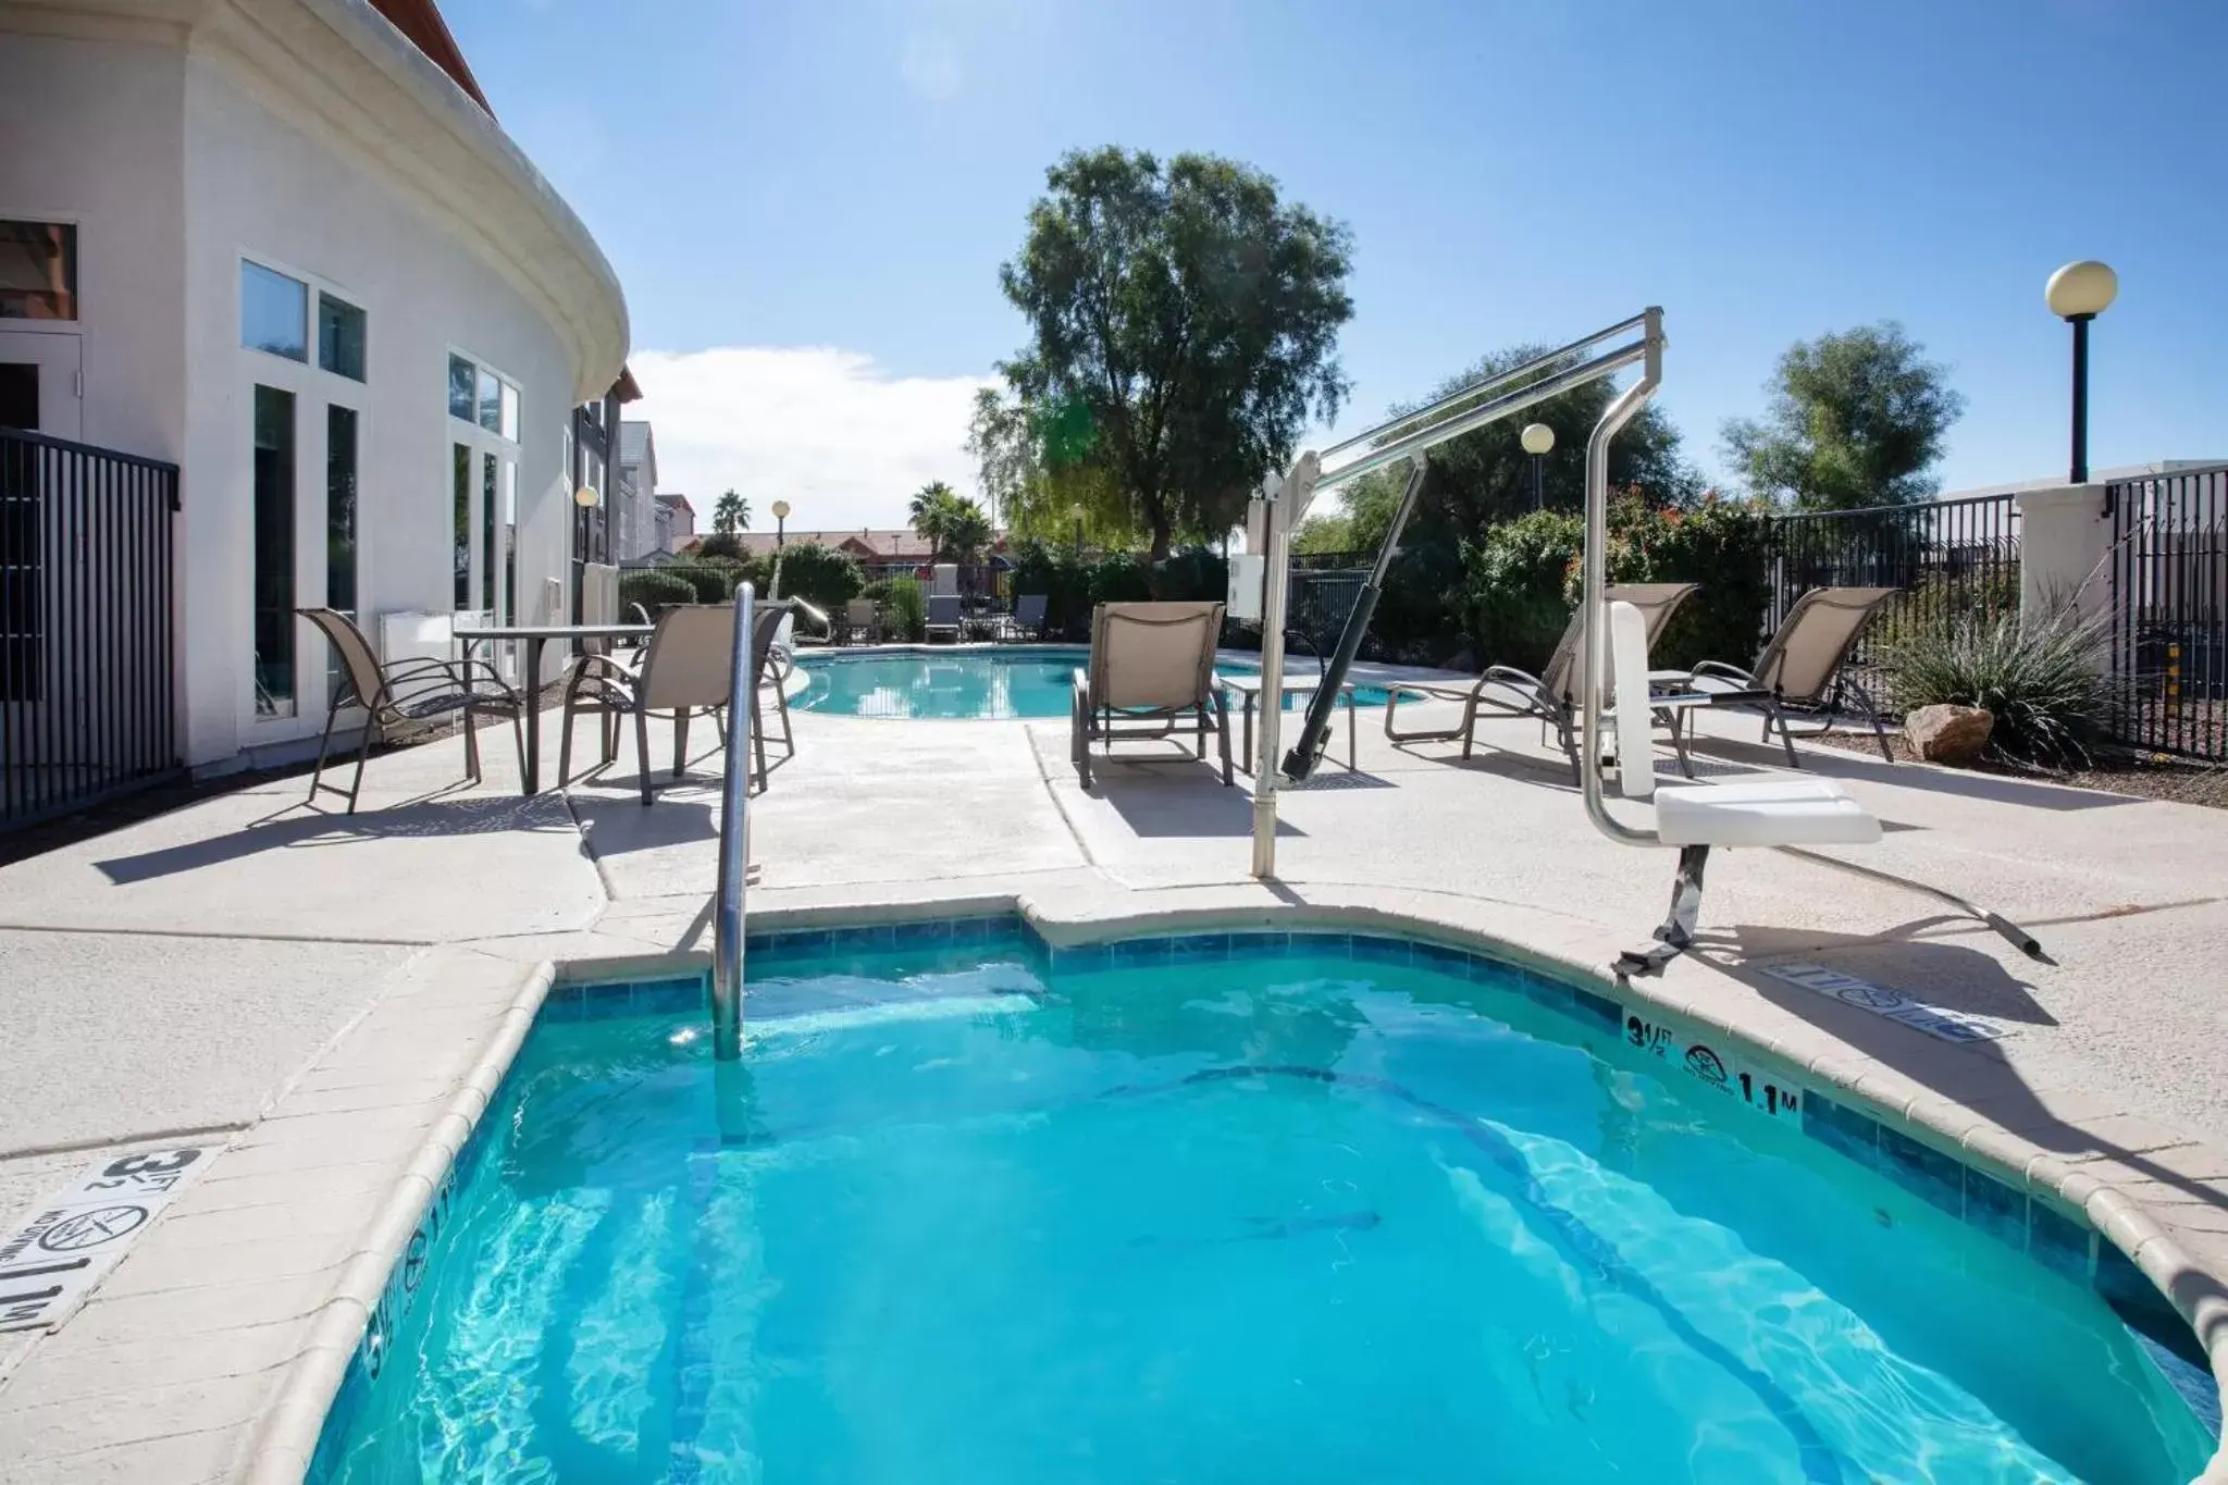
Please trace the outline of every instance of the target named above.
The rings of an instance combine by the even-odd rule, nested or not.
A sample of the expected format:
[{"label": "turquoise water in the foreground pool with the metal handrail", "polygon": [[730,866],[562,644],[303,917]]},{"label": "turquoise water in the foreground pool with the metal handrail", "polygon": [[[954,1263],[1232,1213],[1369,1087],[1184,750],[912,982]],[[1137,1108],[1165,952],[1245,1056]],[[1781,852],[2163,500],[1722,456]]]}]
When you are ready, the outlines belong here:
[{"label": "turquoise water in the foreground pool with the metal handrail", "polygon": [[2085,1282],[1776,1098],[1506,971],[1294,944],[760,955],[724,1066],[700,1011],[553,1006],[316,1478],[2201,1467]]}]

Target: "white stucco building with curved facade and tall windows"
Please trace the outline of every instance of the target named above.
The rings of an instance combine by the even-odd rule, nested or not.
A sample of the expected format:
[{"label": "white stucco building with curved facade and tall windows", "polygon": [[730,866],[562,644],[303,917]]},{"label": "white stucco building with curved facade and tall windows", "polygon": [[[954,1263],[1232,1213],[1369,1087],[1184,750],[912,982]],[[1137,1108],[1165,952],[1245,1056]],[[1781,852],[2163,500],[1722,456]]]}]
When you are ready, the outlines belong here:
[{"label": "white stucco building with curved facade and tall windows", "polygon": [[296,608],[570,614],[626,305],[432,0],[0,0],[0,421],[178,465],[185,764],[314,739]]}]

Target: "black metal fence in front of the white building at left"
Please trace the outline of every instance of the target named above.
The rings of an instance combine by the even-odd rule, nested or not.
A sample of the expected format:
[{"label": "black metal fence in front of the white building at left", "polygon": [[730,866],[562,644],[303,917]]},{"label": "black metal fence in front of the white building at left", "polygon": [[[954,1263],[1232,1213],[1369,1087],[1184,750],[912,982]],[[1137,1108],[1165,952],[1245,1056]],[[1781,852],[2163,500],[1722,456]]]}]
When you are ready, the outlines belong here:
[{"label": "black metal fence in front of the white building at left", "polygon": [[176,773],[178,468],[0,427],[0,828]]}]

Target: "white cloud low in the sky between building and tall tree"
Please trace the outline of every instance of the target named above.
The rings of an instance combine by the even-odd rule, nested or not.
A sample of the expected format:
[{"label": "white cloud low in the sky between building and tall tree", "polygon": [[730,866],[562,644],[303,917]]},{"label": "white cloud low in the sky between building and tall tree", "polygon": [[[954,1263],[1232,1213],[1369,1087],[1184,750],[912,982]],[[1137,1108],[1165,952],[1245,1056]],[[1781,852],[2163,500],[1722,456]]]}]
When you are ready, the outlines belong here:
[{"label": "white cloud low in the sky between building and tall tree", "polygon": [[789,530],[905,525],[913,490],[942,479],[974,492],[967,414],[989,376],[889,376],[873,356],[824,345],[717,345],[637,352],[642,401],[626,410],[657,436],[657,488],[711,525],[722,490],[751,499],[753,530],[789,501]]}]

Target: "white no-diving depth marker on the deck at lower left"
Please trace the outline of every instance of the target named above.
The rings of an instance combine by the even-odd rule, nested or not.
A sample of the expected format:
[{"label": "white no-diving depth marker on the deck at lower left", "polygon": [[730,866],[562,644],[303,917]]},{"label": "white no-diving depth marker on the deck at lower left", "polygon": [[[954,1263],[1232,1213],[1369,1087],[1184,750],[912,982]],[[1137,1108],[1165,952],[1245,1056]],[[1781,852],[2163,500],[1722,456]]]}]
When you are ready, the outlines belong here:
[{"label": "white no-diving depth marker on the deck at lower left", "polygon": [[33,1207],[0,1238],[0,1331],[67,1320],[212,1153],[185,1147],[114,1155]]}]

